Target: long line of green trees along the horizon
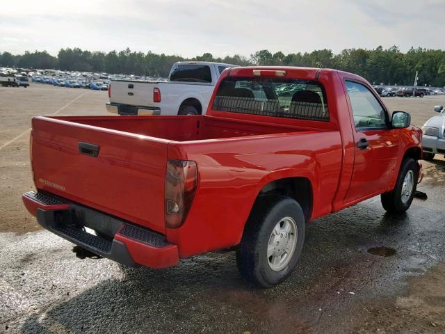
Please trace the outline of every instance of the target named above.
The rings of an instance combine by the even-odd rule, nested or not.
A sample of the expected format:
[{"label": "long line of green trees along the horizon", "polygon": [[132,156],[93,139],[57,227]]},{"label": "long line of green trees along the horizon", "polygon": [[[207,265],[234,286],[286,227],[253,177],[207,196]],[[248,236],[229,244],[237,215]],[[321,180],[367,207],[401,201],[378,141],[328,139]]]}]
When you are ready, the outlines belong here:
[{"label": "long line of green trees along the horizon", "polygon": [[403,53],[398,47],[389,49],[344,49],[334,54],[330,49],[312,52],[283,54],[268,50],[257,51],[245,56],[214,57],[202,56],[184,58],[175,55],[131,51],[87,51],[79,48],[60,49],[57,56],[47,51],[25,51],[13,55],[0,53],[0,66],[38,69],[58,69],[81,72],[107,72],[113,74],[136,74],[152,77],[166,77],[172,63],[176,61],[216,61],[234,65],[285,65],[306,67],[329,67],[353,72],[366,78],[371,84],[412,85],[414,74],[419,72],[419,86],[445,86],[445,50],[411,48]]}]

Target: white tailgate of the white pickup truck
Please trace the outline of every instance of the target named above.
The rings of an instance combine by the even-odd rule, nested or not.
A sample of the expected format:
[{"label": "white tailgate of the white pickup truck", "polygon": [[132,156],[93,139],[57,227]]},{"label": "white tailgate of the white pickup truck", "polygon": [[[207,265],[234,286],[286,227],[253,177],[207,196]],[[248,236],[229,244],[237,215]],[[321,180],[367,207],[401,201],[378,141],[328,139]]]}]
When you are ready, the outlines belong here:
[{"label": "white tailgate of the white pickup truck", "polygon": [[156,83],[144,81],[110,81],[111,103],[131,106],[149,106],[153,103],[153,88]]}]

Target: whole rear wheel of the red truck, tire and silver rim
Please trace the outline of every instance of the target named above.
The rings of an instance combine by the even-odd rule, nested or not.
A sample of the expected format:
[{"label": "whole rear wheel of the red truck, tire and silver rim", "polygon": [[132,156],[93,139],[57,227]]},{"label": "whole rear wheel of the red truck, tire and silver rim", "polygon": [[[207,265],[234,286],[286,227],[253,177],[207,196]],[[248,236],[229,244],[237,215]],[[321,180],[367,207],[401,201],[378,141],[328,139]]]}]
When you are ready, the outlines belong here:
[{"label": "whole rear wheel of the red truck, tire and silver rim", "polygon": [[305,216],[285,196],[257,200],[236,250],[241,276],[258,287],[272,287],[296,267],[305,241]]}]

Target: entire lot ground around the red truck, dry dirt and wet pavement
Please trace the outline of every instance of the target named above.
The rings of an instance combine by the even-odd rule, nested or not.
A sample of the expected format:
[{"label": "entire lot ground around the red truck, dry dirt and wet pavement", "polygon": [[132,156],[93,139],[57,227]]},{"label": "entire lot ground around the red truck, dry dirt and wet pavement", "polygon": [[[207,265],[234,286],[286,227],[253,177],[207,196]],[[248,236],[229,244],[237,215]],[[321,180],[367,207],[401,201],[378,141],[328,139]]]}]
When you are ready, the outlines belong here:
[{"label": "entire lot ground around the red truck, dry dirt and wet pavement", "polygon": [[[403,216],[379,198],[318,219],[296,271],[257,290],[233,253],[163,270],[79,260],[22,206],[33,189],[29,127],[37,115],[106,114],[106,92],[0,88],[0,333],[445,333],[445,160]],[[385,98],[421,126],[445,97]],[[367,250],[387,246],[394,255]]]}]

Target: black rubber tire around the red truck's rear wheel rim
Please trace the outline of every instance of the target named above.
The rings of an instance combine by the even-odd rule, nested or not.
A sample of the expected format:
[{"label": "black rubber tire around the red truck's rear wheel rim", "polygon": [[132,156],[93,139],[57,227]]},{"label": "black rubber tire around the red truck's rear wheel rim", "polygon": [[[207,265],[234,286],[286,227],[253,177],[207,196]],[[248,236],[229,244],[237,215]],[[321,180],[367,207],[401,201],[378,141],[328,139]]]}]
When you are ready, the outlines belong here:
[{"label": "black rubber tire around the red truck's rear wheel rim", "polygon": [[[272,256],[267,255],[271,234],[277,223],[289,217],[296,223],[296,246],[285,267],[273,270],[269,264]],[[255,202],[245,225],[243,239],[236,250],[238,270],[245,280],[257,287],[277,285],[296,267],[304,241],[305,216],[298,202],[286,196],[265,196]]]}]

